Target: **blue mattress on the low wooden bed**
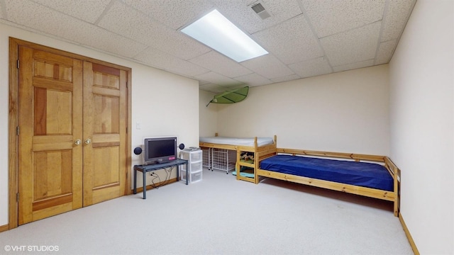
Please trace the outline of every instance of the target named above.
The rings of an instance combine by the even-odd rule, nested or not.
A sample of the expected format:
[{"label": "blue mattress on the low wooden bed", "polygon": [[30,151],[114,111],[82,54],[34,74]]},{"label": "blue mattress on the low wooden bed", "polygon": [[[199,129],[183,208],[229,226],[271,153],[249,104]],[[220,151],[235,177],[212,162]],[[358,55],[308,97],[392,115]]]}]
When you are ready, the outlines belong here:
[{"label": "blue mattress on the low wooden bed", "polygon": [[384,191],[394,189],[388,170],[374,163],[276,155],[262,160],[260,169]]}]

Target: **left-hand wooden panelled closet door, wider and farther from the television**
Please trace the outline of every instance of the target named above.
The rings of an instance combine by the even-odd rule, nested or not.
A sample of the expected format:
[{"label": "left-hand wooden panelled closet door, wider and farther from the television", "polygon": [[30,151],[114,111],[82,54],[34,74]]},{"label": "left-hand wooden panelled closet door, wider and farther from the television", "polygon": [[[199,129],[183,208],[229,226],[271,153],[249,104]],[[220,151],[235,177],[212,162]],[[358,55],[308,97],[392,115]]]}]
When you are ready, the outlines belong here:
[{"label": "left-hand wooden panelled closet door, wider and farther from the television", "polygon": [[19,47],[18,224],[82,207],[82,61]]}]

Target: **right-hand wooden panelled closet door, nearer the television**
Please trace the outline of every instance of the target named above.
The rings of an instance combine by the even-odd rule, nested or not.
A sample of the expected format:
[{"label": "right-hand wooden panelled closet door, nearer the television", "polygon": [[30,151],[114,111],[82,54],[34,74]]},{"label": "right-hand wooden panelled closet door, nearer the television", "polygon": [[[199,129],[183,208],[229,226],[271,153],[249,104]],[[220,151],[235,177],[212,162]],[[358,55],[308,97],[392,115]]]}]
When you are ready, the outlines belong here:
[{"label": "right-hand wooden panelled closet door, nearer the television", "polygon": [[84,206],[125,195],[126,71],[84,62]]}]

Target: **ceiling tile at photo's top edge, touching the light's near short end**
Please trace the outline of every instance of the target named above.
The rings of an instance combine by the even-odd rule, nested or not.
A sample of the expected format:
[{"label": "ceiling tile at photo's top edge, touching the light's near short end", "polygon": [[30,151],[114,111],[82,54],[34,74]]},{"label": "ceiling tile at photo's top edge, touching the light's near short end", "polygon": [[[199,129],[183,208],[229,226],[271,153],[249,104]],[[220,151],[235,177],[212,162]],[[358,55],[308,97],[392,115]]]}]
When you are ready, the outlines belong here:
[{"label": "ceiling tile at photo's top edge, touching the light's near short end", "polygon": [[123,0],[123,2],[174,30],[187,26],[213,8],[209,0]]}]

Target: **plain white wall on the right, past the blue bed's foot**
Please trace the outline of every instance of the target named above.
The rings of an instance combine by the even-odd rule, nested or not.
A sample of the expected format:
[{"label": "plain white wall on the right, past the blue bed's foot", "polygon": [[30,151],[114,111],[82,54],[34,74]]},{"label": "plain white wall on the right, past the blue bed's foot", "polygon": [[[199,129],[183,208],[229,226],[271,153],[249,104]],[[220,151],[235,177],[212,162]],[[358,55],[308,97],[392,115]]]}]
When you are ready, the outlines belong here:
[{"label": "plain white wall on the right, past the blue bed's foot", "polygon": [[454,254],[454,1],[418,0],[389,66],[402,216],[421,254]]}]

